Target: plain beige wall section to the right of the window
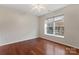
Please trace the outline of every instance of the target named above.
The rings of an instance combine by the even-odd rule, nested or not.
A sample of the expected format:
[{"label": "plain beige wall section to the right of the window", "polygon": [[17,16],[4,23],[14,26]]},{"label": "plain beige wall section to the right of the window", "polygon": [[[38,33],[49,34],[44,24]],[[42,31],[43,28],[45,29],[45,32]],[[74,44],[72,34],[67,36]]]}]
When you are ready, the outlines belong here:
[{"label": "plain beige wall section to the right of the window", "polygon": [[65,40],[67,44],[79,48],[79,5],[65,8]]}]

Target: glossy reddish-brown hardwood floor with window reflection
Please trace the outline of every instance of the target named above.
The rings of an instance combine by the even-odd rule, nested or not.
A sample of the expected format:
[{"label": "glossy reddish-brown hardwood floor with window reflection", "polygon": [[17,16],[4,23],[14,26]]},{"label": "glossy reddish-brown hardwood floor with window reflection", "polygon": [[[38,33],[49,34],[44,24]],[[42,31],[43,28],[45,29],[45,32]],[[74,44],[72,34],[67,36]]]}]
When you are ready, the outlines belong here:
[{"label": "glossy reddish-brown hardwood floor with window reflection", "polygon": [[78,55],[79,49],[36,38],[0,47],[0,55]]}]

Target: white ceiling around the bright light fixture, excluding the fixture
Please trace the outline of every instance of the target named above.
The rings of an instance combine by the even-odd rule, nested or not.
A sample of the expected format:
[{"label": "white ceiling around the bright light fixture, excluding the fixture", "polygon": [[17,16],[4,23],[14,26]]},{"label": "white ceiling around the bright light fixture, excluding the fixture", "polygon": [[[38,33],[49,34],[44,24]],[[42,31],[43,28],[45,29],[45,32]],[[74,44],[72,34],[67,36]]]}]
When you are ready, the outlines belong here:
[{"label": "white ceiling around the bright light fixture, excluding the fixture", "polygon": [[58,10],[60,8],[63,8],[67,6],[66,4],[42,4],[46,9],[41,10],[41,12],[38,12],[37,10],[32,10],[32,4],[4,4],[0,6],[4,6],[7,8],[11,8],[13,10],[19,11],[21,13],[31,13],[35,16],[41,16],[45,15],[47,13],[50,13],[52,11]]}]

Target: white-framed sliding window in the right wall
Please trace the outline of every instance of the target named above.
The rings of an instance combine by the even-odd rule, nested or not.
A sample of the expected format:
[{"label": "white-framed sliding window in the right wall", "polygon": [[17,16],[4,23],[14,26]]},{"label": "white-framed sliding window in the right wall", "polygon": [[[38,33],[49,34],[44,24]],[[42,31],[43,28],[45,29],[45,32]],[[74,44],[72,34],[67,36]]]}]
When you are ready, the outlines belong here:
[{"label": "white-framed sliding window in the right wall", "polygon": [[45,20],[45,34],[64,37],[64,15]]}]

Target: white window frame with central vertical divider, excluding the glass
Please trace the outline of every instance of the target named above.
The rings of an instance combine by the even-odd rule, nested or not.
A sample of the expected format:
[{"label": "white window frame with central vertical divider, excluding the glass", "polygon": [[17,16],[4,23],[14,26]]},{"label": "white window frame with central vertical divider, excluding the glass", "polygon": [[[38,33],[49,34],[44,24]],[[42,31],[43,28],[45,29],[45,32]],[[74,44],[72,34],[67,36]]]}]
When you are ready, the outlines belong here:
[{"label": "white window frame with central vertical divider, excluding the glass", "polygon": [[[53,16],[53,17],[47,18],[46,20],[48,20],[48,19],[54,19],[55,17],[59,17],[59,16],[64,16],[64,14]],[[44,34],[45,35],[49,35],[49,36],[55,36],[55,37],[64,38],[64,36],[62,36],[62,35],[56,35],[55,34],[55,20],[53,20],[53,34],[48,34],[47,33],[47,29],[46,29],[46,25],[47,25],[46,20],[45,20],[45,23],[44,23]]]}]

